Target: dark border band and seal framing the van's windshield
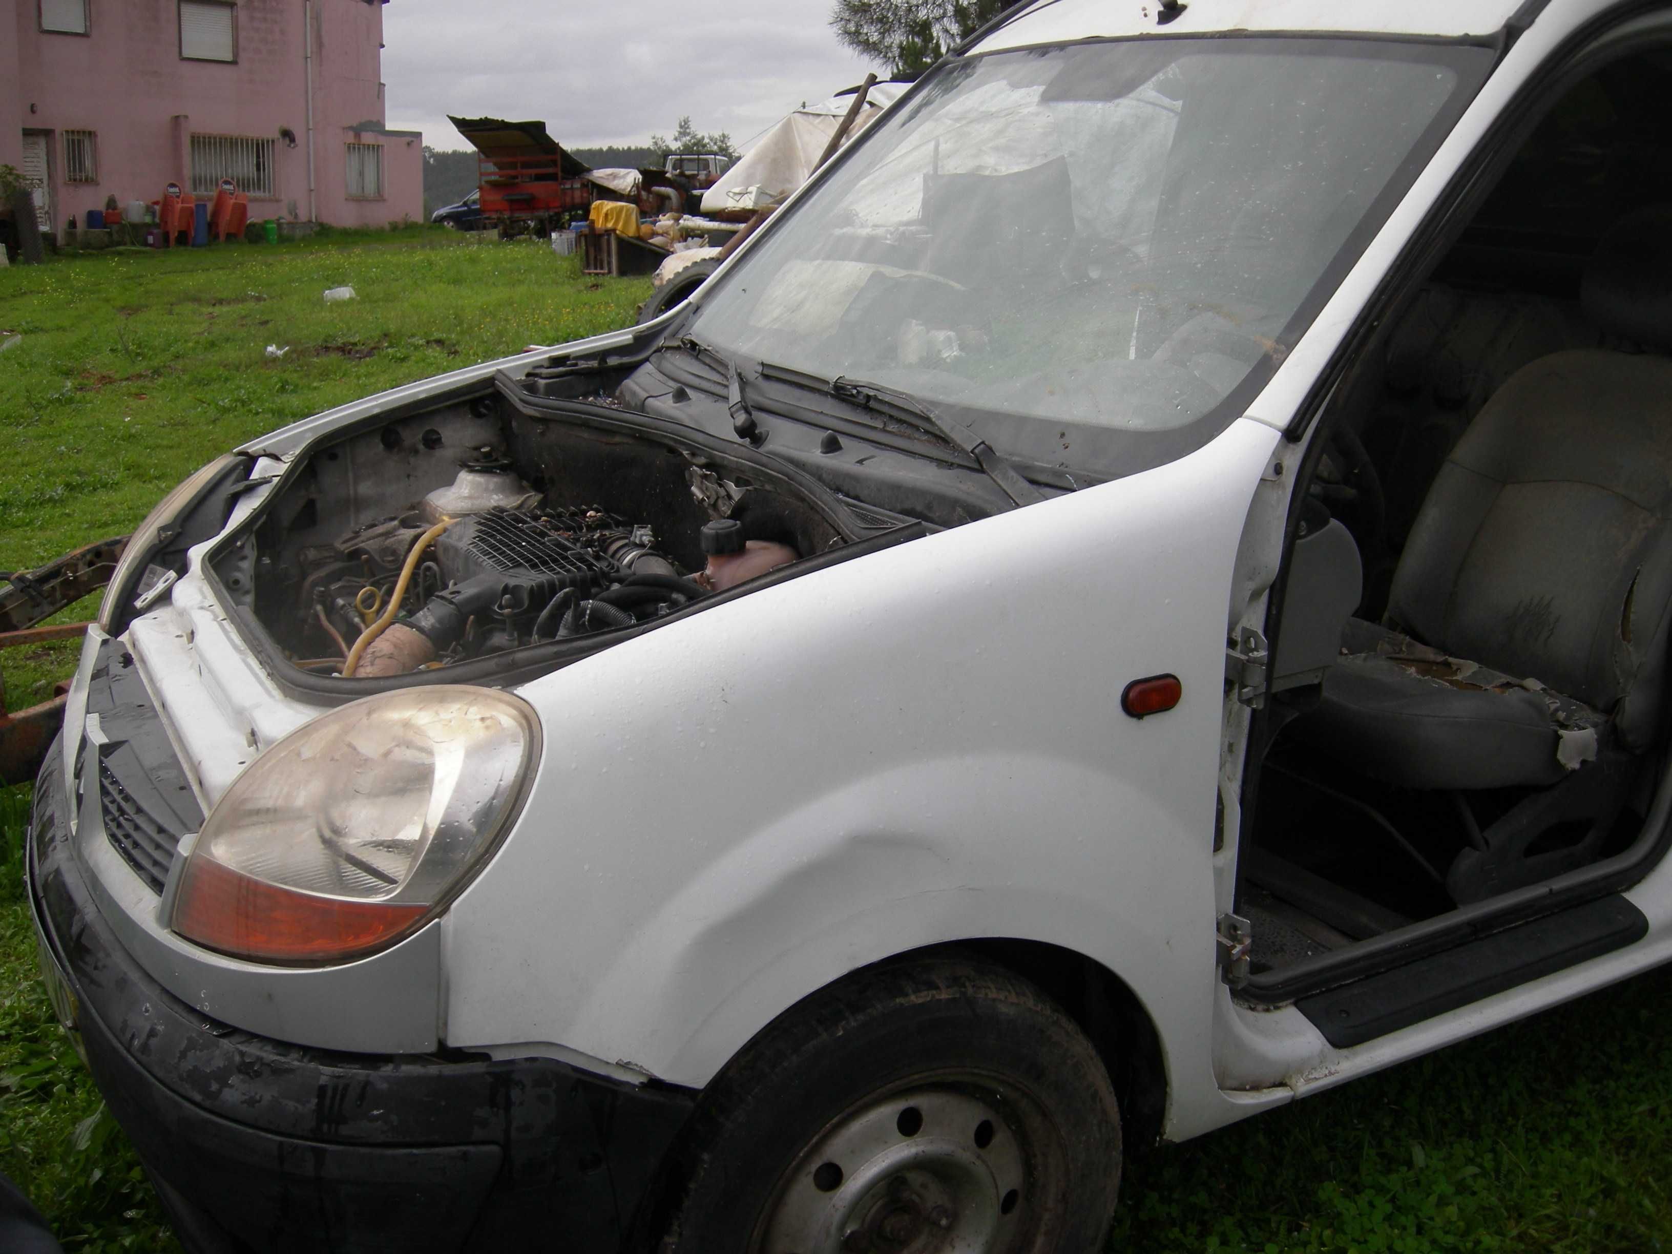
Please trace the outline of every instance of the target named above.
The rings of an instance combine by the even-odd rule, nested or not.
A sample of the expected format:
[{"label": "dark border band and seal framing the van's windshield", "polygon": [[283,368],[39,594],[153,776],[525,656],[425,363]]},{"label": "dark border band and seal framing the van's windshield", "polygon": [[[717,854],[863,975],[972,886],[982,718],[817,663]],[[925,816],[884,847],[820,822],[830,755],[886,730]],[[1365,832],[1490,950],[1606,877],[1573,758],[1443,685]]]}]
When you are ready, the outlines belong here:
[{"label": "dark border band and seal framing the van's windshield", "polygon": [[[1490,75],[1496,59],[1496,45],[1478,38],[1435,40],[1383,35],[1353,35],[1343,38],[1301,33],[1227,33],[1212,37],[1169,33],[1142,38],[1095,38],[1022,50],[998,48],[993,52],[978,52],[966,57],[943,60],[900,99],[900,102],[890,110],[890,115],[910,117],[915,102],[921,104],[926,94],[938,90],[941,95],[946,95],[950,90],[956,90],[956,82],[953,82],[951,89],[946,87],[948,75],[968,74],[968,67],[983,64],[990,59],[1045,57],[1060,54],[1063,48],[1085,45],[1150,45],[1154,48],[1154,45],[1159,43],[1170,45],[1172,48],[1179,48],[1179,45],[1195,45],[1187,52],[1179,54],[1190,57],[1195,57],[1197,54],[1214,55],[1231,50],[1259,54],[1281,48],[1287,55],[1299,52],[1302,55],[1318,54],[1338,59],[1373,59],[1378,62],[1413,64],[1418,67],[1436,67],[1450,72],[1451,84],[1440,107],[1433,110],[1433,115],[1430,117],[1426,112],[1421,114],[1421,117],[1428,117],[1426,125],[1418,129],[1418,125],[1413,124],[1415,140],[1409,144],[1408,152],[1401,161],[1398,161],[1398,164],[1391,166],[1391,172],[1386,181],[1373,197],[1368,197],[1364,211],[1346,232],[1339,247],[1336,247],[1329,259],[1323,264],[1316,281],[1306,289],[1304,296],[1294,306],[1292,314],[1281,324],[1281,329],[1271,334],[1271,339],[1267,341],[1269,351],[1262,353],[1259,361],[1249,368],[1234,386],[1224,391],[1217,403],[1195,416],[1192,421],[1162,430],[1117,430],[1112,426],[1078,423],[1062,415],[1018,413],[1013,410],[971,403],[960,396],[916,393],[910,386],[901,386],[896,380],[879,380],[898,391],[921,395],[923,403],[931,405],[946,418],[975,430],[997,450],[1022,463],[1058,466],[1067,472],[1077,472],[1078,475],[1092,480],[1104,480],[1164,465],[1192,451],[1194,448],[1202,446],[1219,435],[1219,431],[1234,421],[1234,418],[1239,416],[1264,390],[1287,353],[1311,328],[1323,304],[1336,291],[1346,273],[1358,263],[1364,247],[1386,224],[1394,206],[1404,197],[1416,176],[1438,149],[1440,142],[1446,134],[1450,134],[1458,117],[1475,99],[1481,84],[1485,84]],[[761,356],[764,356],[749,343],[737,343],[731,336],[716,334],[716,311],[724,311],[731,301],[747,293],[751,281],[757,279],[761,274],[766,274],[766,279],[762,281],[764,288],[766,281],[771,281],[774,273],[772,269],[762,269],[764,266],[796,261],[796,254],[774,257],[774,239],[782,239],[784,232],[793,229],[798,217],[821,204],[821,197],[851,194],[856,182],[849,177],[846,181],[848,186],[843,186],[844,169],[849,169],[853,162],[864,162],[866,150],[873,149],[878,142],[883,142],[884,149],[879,150],[881,157],[873,159],[871,164],[876,166],[876,161],[890,159],[891,149],[886,147],[886,144],[893,142],[888,139],[890,132],[886,127],[890,115],[884,115],[884,119],[873,125],[866,135],[839,152],[838,157],[819,172],[816,186],[811,186],[801,197],[798,197],[788,214],[777,216],[777,221],[769,221],[759,232],[756,242],[732,266],[729,266],[724,274],[706,284],[704,291],[701,291],[692,301],[694,309],[692,314],[684,319],[681,328],[682,331],[702,336],[706,343],[712,344],[726,356],[734,356],[744,361],[761,359]],[[1420,119],[1416,119],[1416,122],[1420,122]],[[898,140],[898,134],[895,139]],[[868,176],[861,171],[858,177],[863,179]],[[804,371],[814,376],[834,376],[841,373],[821,370],[824,363],[819,361],[796,359],[784,354],[772,354],[771,359],[784,363],[788,370]],[[863,373],[866,378],[878,378],[876,371],[866,366],[854,366],[849,373]],[[1037,430],[1040,426],[1057,428],[1057,433],[1062,436],[1060,450],[1042,446],[1040,431]]]}]

